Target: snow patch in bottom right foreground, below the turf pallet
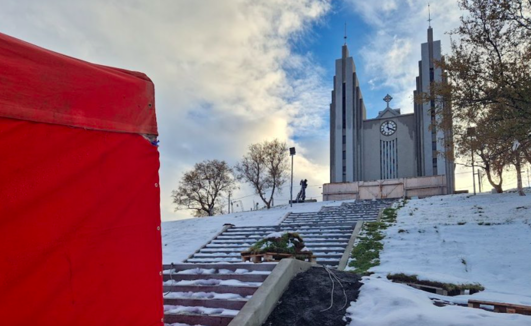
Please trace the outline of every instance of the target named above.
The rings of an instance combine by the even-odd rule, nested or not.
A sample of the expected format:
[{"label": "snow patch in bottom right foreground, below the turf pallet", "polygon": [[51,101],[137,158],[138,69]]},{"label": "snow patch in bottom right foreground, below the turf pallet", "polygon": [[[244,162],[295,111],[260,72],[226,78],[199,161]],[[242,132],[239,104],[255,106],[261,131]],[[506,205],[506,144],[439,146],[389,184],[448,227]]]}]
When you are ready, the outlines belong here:
[{"label": "snow patch in bottom right foreground, below the turf pallet", "polygon": [[350,326],[529,326],[531,316],[503,314],[462,306],[438,307],[429,293],[364,277],[356,303],[347,308]]}]

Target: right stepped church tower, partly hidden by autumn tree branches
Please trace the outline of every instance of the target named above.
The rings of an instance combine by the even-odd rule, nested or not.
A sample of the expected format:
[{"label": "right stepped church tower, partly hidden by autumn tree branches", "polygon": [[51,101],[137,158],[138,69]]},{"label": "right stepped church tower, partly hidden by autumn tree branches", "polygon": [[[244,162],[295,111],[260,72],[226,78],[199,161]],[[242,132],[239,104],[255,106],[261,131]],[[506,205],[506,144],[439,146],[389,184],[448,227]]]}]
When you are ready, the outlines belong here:
[{"label": "right stepped church tower, partly hidden by autumn tree branches", "polygon": [[[431,19],[429,19],[431,21]],[[421,45],[422,60],[418,62],[418,77],[414,98],[422,93],[430,93],[430,85],[433,82],[446,82],[441,68],[436,61],[441,61],[441,41],[433,40],[433,29],[427,30],[427,42]],[[443,105],[439,110],[439,105]],[[438,130],[435,122],[440,121],[441,111],[450,111],[449,104],[440,104],[434,100],[423,104],[414,104],[416,119],[416,161],[417,175],[446,175],[448,193],[455,190],[455,164],[449,160],[452,157],[451,131]],[[448,153],[448,151],[452,151]]]}]

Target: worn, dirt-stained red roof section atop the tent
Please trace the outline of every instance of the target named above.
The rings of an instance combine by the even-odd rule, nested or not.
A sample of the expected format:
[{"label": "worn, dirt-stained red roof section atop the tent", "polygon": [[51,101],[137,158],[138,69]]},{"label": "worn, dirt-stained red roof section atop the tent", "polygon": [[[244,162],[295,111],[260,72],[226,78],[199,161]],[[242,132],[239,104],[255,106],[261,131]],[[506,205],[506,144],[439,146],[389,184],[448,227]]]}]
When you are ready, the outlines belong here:
[{"label": "worn, dirt-stained red roof section atop the tent", "polygon": [[0,116],[157,135],[141,72],[89,63],[0,33]]}]

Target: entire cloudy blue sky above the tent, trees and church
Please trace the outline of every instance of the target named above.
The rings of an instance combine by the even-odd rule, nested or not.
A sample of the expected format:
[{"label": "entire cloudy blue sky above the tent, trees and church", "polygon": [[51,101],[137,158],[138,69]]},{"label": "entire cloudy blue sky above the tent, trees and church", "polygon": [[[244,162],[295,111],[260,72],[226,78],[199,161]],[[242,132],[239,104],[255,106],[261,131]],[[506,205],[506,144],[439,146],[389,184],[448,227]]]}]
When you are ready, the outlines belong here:
[{"label": "entire cloudy blue sky above the tent, trees and church", "polygon": [[[431,5],[435,39],[449,52],[457,0]],[[297,148],[294,184],[321,199],[329,181],[329,104],[346,23],[367,107],[413,112],[426,41],[420,0],[0,0],[0,32],[93,63],[146,73],[155,83],[162,220],[182,219],[172,189],[203,160],[234,165],[247,146],[279,138]],[[458,167],[457,188],[472,186]],[[285,204],[289,185],[275,204]],[[298,187],[294,189],[297,193]],[[233,198],[249,210],[244,184]]]}]

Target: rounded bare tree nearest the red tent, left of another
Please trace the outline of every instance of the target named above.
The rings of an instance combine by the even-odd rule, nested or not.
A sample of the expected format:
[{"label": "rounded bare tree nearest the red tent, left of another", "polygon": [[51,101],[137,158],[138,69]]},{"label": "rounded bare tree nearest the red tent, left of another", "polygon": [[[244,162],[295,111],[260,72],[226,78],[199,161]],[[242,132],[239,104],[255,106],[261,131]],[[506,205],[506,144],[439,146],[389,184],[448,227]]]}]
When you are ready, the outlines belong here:
[{"label": "rounded bare tree nearest the red tent, left of another", "polygon": [[221,213],[221,195],[236,188],[233,170],[225,161],[203,161],[183,174],[172,191],[175,210],[193,210],[195,216]]}]

